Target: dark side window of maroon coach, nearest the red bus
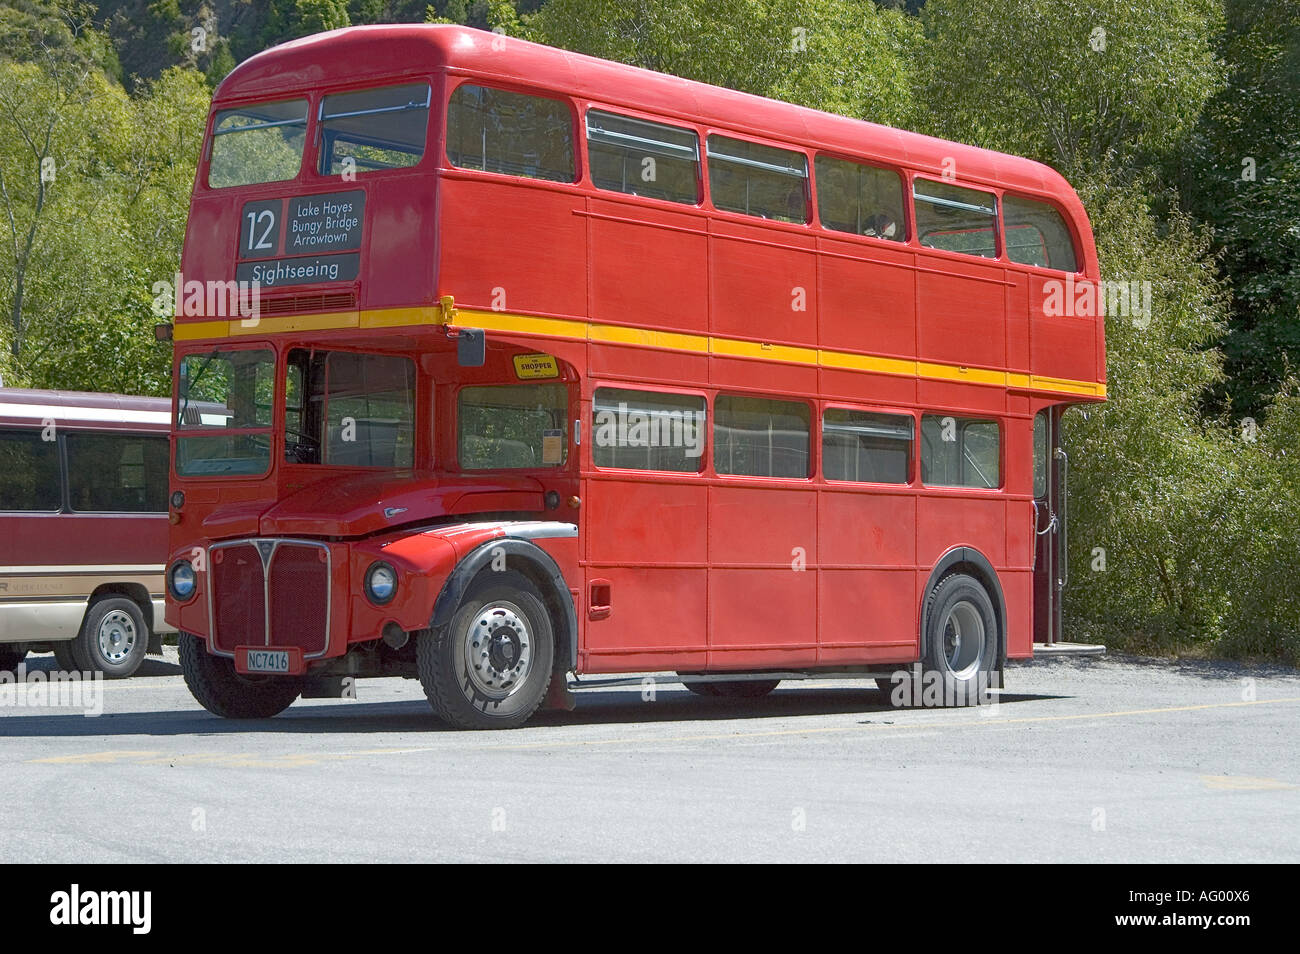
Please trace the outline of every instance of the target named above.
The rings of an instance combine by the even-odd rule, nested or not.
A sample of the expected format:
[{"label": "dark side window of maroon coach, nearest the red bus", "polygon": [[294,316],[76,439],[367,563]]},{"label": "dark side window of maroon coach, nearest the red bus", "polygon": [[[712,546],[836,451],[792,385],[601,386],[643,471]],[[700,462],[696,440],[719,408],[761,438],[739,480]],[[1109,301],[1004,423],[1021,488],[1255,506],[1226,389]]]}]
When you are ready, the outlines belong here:
[{"label": "dark side window of maroon coach, nearest the red bus", "polygon": [[166,464],[165,437],[69,434],[72,508],[83,513],[162,513]]}]

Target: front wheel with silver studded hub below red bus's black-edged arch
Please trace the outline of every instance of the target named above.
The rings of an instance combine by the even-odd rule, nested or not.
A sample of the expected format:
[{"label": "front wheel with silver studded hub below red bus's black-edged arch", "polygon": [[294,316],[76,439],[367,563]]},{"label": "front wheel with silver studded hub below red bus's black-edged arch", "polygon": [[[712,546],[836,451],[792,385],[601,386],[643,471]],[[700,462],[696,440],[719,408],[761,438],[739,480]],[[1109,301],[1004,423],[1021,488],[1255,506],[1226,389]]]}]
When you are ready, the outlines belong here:
[{"label": "front wheel with silver studded hub below red bus's black-edged arch", "polygon": [[546,698],[555,660],[541,594],[514,571],[480,574],[450,624],[420,633],[416,660],[424,694],[448,725],[523,725]]}]

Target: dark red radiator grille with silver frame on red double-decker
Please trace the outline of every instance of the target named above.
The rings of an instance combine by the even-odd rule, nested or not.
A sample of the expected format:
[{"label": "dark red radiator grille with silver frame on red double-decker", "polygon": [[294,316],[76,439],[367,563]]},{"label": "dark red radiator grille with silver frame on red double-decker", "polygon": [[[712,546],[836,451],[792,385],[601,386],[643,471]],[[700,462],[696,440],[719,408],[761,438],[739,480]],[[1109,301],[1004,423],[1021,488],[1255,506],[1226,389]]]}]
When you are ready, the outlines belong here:
[{"label": "dark red radiator grille with silver frame on red double-decker", "polygon": [[283,539],[218,543],[212,547],[211,564],[216,651],[298,646],[306,656],[325,652],[330,561],[324,545]]}]

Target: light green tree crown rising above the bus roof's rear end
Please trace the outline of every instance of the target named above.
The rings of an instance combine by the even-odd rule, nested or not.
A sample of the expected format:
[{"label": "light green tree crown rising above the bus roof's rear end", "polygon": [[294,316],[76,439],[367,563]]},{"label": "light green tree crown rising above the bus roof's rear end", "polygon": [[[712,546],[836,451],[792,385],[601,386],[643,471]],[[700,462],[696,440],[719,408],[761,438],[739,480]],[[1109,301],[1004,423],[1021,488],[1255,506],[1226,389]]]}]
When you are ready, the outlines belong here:
[{"label": "light green tree crown rising above the bus roof's rear end", "polygon": [[1115,177],[1167,153],[1216,88],[1217,0],[930,0],[937,135]]}]

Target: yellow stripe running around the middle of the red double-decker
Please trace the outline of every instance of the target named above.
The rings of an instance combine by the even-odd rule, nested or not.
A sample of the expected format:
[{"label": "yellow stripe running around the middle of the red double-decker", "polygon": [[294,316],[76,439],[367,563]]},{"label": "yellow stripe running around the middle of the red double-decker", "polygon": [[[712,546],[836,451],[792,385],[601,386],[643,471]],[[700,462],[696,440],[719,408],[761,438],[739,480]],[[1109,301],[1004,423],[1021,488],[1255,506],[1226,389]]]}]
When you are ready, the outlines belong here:
[{"label": "yellow stripe running around the middle of the red double-decker", "polygon": [[[378,308],[361,312],[329,312],[324,315],[294,315],[260,318],[255,324],[234,318],[231,321],[177,322],[173,337],[177,341],[230,338],[235,335],[277,334],[281,331],[330,331],[339,329],[407,328],[413,325],[445,324],[441,308]],[[481,328],[485,331],[530,334],[571,341],[593,341],[611,344],[689,351],[696,354],[753,357],[760,361],[783,361],[809,367],[864,370],[878,374],[898,374],[930,381],[961,381],[974,385],[993,385],[1032,391],[1063,391],[1089,396],[1106,396],[1106,386],[1091,381],[1071,381],[1023,372],[966,368],[956,364],[913,361],[883,355],[859,355],[852,351],[807,348],[793,344],[771,344],[744,338],[720,338],[684,331],[660,331],[627,325],[602,325],[575,318],[549,318],[536,315],[510,312],[484,312],[473,308],[455,309],[454,324],[463,328]]]}]

